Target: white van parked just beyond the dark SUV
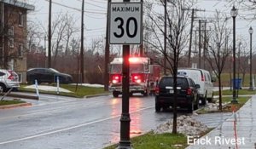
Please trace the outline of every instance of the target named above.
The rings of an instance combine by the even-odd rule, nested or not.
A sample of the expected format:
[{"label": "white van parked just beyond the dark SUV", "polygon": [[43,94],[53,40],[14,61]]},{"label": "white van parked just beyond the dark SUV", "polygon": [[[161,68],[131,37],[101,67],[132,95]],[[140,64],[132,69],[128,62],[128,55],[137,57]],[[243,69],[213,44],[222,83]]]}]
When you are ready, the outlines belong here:
[{"label": "white van parked just beyond the dark SUV", "polygon": [[195,83],[200,84],[200,89],[198,89],[199,100],[201,105],[206,105],[207,100],[212,102],[213,100],[213,84],[215,80],[211,77],[210,72],[203,69],[194,68],[183,68],[177,70],[178,75],[183,75],[190,77]]}]

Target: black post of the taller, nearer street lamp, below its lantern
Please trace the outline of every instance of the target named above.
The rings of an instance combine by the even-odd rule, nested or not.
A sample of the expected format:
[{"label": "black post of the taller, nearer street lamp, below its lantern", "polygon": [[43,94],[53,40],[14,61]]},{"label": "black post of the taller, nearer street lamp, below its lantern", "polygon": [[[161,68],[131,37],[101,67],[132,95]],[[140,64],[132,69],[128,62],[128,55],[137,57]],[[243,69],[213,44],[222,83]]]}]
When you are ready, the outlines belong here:
[{"label": "black post of the taller, nearer street lamp, below its lantern", "polygon": [[238,103],[236,100],[236,17],[233,16],[233,99],[231,103]]}]

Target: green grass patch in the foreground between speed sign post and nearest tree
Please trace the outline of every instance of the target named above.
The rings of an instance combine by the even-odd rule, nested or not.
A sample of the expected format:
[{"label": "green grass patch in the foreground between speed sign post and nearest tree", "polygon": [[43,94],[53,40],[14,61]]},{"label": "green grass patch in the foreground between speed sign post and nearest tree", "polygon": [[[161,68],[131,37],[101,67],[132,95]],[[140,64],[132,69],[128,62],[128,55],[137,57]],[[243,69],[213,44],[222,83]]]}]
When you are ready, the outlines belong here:
[{"label": "green grass patch in the foreground between speed sign post and nearest tree", "polygon": [[[115,144],[105,149],[115,149],[117,146],[118,144]],[[133,149],[183,149],[188,145],[185,135],[171,133],[155,135],[153,132],[149,132],[148,134],[131,138],[131,146]]]}]

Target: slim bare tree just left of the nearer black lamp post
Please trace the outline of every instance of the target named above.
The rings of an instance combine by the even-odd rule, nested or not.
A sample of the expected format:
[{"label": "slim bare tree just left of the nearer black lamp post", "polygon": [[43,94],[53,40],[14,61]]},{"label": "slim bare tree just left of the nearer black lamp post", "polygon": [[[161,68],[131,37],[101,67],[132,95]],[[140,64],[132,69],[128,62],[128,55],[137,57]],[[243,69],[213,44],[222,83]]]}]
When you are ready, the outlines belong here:
[{"label": "slim bare tree just left of the nearer black lamp post", "polygon": [[226,15],[216,11],[214,18],[215,22],[213,23],[212,36],[209,40],[207,61],[216,77],[218,77],[219,110],[222,111],[221,74],[232,50],[229,49],[228,45],[230,30],[227,29],[228,19]]}]

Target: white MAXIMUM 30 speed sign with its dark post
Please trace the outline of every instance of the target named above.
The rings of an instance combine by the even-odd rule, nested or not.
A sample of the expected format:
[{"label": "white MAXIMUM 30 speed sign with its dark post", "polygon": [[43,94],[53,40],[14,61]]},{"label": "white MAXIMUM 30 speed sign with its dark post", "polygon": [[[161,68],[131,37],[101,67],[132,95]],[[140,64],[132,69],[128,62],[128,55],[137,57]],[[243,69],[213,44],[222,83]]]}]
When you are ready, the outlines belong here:
[{"label": "white MAXIMUM 30 speed sign with its dark post", "polygon": [[120,117],[119,149],[131,149],[129,113],[130,45],[142,43],[142,3],[110,3],[109,43],[123,44],[122,114]]}]

